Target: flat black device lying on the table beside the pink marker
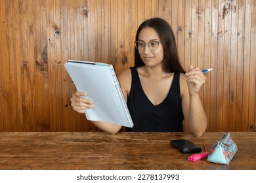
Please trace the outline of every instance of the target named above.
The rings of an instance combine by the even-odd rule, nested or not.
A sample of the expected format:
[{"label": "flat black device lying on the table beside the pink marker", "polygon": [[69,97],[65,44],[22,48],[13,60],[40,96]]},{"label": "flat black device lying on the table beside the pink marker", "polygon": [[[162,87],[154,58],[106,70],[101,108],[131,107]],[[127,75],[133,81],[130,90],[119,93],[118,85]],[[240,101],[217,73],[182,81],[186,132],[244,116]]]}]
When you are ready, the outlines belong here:
[{"label": "flat black device lying on the table beside the pink marker", "polygon": [[184,154],[201,152],[202,148],[185,139],[171,140],[171,145]]}]

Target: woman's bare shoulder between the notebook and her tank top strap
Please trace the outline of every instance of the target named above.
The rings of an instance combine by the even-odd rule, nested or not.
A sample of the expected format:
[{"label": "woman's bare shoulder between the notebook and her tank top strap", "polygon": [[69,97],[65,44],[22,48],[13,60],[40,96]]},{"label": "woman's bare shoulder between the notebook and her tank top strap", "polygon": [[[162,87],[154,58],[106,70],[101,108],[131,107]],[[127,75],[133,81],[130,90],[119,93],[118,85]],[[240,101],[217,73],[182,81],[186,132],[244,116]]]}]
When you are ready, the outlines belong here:
[{"label": "woman's bare shoulder between the notebook and her tank top strap", "polygon": [[131,69],[122,71],[119,73],[119,75],[117,75],[117,78],[123,92],[129,95],[131,89]]}]

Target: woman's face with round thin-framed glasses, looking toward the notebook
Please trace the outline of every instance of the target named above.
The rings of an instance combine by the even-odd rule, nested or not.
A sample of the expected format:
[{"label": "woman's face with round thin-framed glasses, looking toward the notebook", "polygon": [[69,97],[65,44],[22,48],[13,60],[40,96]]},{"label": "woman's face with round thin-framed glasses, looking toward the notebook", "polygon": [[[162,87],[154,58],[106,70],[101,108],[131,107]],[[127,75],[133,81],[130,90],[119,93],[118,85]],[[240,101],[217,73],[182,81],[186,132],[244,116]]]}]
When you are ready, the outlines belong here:
[{"label": "woman's face with round thin-framed glasses, looking toward the notebook", "polygon": [[[163,47],[160,42],[158,33],[152,27],[144,27],[141,29],[138,41],[146,43],[144,49],[139,50],[140,58],[146,66],[155,67],[161,65],[163,61]],[[154,42],[159,42],[158,49],[154,50]],[[148,44],[150,43],[150,44]],[[152,49],[150,50],[151,47]]]}]

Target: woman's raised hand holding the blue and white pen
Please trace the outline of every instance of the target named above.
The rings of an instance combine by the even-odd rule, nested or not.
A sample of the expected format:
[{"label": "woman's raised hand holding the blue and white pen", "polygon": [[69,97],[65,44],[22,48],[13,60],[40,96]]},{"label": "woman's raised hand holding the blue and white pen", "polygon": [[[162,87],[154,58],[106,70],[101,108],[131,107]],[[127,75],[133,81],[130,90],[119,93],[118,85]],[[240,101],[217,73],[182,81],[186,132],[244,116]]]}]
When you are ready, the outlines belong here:
[{"label": "woman's raised hand holding the blue and white pen", "polygon": [[202,85],[205,83],[205,75],[198,67],[190,65],[188,73],[186,73],[186,83],[190,95],[198,95]]}]

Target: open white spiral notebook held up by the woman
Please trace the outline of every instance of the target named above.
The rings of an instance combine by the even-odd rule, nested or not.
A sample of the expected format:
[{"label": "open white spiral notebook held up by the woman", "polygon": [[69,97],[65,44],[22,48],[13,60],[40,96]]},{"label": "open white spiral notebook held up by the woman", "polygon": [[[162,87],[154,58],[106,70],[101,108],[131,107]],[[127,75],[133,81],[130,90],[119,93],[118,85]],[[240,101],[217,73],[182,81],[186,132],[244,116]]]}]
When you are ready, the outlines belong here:
[{"label": "open white spiral notebook held up by the woman", "polygon": [[85,110],[87,120],[133,127],[131,115],[112,65],[68,60],[64,67],[77,91],[87,92],[86,98],[94,101],[94,108]]}]

